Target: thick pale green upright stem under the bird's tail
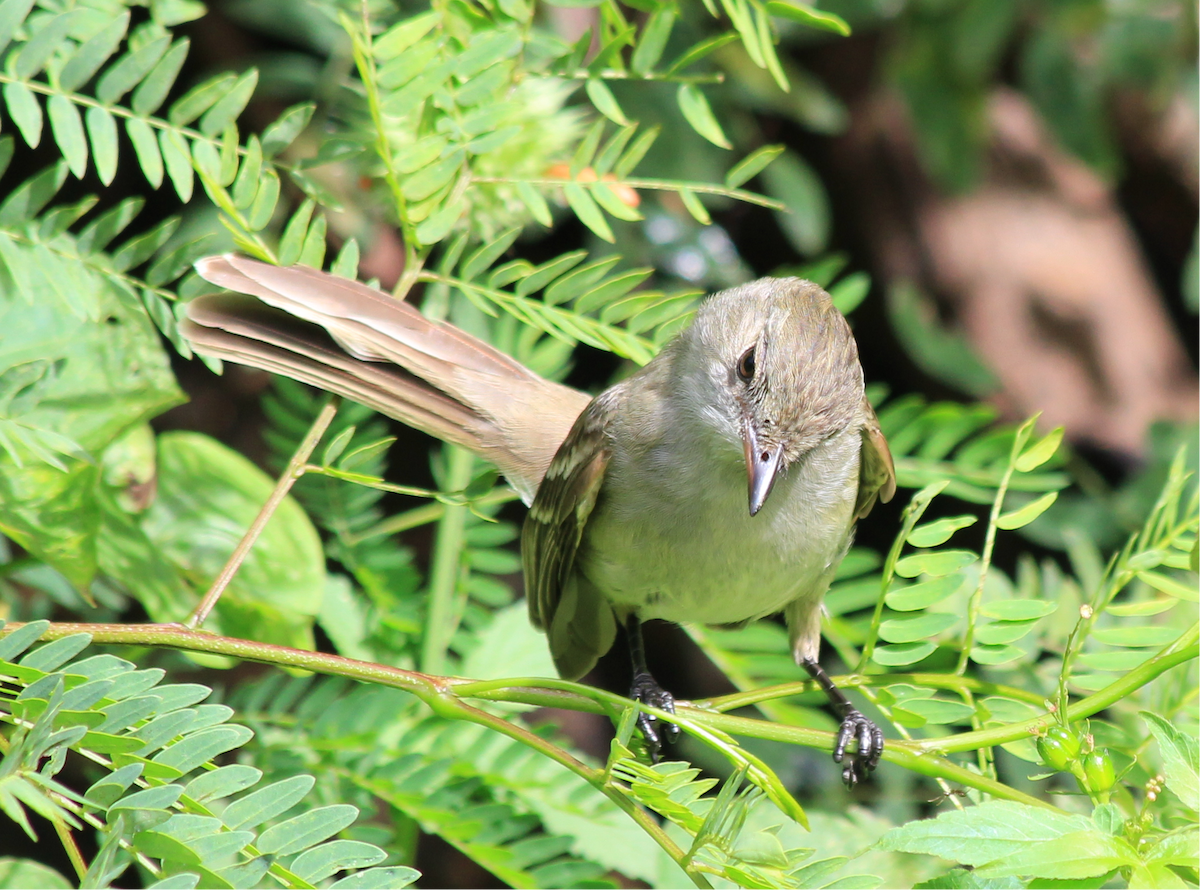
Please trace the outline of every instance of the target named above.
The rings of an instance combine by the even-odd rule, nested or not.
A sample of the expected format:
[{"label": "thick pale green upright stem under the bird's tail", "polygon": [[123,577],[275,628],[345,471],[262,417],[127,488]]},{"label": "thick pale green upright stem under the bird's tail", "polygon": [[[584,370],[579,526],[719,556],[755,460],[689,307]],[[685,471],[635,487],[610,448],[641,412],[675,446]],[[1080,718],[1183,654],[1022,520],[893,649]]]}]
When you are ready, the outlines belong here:
[{"label": "thick pale green upright stem under the bird's tail", "polygon": [[[470,483],[474,456],[455,445],[445,446],[446,491],[458,492]],[[430,611],[421,641],[421,670],[438,674],[445,668],[446,649],[458,629],[462,609],[458,608],[458,588],[462,576],[462,551],[466,543],[466,506],[446,506],[438,521],[430,571]]]}]

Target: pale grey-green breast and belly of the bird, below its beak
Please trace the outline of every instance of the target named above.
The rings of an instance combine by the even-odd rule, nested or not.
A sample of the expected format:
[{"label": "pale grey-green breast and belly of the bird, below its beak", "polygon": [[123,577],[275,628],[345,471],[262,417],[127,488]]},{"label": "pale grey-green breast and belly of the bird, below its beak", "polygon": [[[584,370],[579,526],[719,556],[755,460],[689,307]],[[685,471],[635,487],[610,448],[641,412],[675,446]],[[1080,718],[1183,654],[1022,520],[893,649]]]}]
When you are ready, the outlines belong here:
[{"label": "pale grey-green breast and belly of the bird, below its beak", "polygon": [[734,624],[820,597],[850,541],[858,450],[857,431],[817,446],[754,517],[739,459],[614,453],[576,571],[643,620]]}]

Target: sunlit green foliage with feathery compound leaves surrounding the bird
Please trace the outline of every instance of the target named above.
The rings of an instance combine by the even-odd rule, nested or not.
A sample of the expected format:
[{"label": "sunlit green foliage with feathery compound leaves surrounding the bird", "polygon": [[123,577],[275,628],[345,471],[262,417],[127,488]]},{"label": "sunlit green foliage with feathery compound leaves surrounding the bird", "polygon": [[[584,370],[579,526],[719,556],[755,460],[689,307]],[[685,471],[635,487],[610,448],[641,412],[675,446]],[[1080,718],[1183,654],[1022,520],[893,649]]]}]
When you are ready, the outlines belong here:
[{"label": "sunlit green foliage with feathery compound leaves surrounding the bird", "polygon": [[[131,866],[156,890],[401,888],[421,834],[522,890],[614,874],[756,890],[1200,883],[1200,493],[1182,458],[1105,557],[1050,522],[1073,481],[1061,431],[872,387],[907,506],[887,553],[848,554],[827,625],[839,682],[889,724],[887,806],[866,817],[838,810],[832,721],[776,624],[692,629],[737,691],[680,706],[686,760],[647,760],[629,700],[547,679],[516,602],[514,495],[472,456],[437,449],[432,487],[415,485],[422,468],[392,459],[382,419],[335,416],[283,380],[262,401],[280,482],[211,437],[150,427],[181,401],[164,342],[190,356],[178,313],[208,287],[191,263],[229,247],[355,277],[373,233],[395,228],[397,296],[560,379],[580,345],[647,361],[704,289],[749,277],[713,223],[739,203],[775,211],[806,258],[792,271],[852,313],[870,282],[820,255],[820,180],[746,110],[841,126],[784,50],[845,23],[776,0],[586,8],[592,30],[565,40],[527,0],[320,0],[277,18],[304,24],[300,55],[322,76],[251,133],[242,113],[280,100],[287,66],[181,82],[199,4],[0,2],[16,130],[0,137],[4,816],[29,836],[48,822],[95,890]],[[895,78],[920,118],[947,106],[950,66],[968,121],[1015,13],[946,8],[906,11],[953,34],[907,35]],[[1060,19],[1043,24],[1022,72],[1066,70]],[[964,29],[995,44],[943,53]],[[1103,133],[1100,104],[1073,90],[1063,138],[1104,167],[1103,140],[1079,137]],[[923,131],[926,162],[955,182],[973,163],[962,120]],[[40,145],[46,166],[18,174]],[[143,196],[83,197],[72,178],[157,192],[154,221]],[[554,246],[530,240],[548,228]],[[928,345],[905,306],[898,330]],[[986,391],[960,347],[934,345],[937,367]],[[427,559],[428,536],[397,539],[425,527]],[[1061,558],[997,555],[1051,537]],[[184,681],[200,667],[208,685]],[[222,703],[203,703],[210,686]],[[607,717],[608,756],[534,706]],[[920,820],[930,798],[949,808]],[[0,873],[67,885],[31,859]]]}]

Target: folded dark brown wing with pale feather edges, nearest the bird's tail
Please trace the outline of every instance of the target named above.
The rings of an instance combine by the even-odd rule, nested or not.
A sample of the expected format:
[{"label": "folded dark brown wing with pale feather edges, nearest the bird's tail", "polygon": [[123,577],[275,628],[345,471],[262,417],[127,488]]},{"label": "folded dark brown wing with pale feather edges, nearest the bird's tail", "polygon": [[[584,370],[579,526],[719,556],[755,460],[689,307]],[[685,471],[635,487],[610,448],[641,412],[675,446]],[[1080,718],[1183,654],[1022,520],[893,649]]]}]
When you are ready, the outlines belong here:
[{"label": "folded dark brown wing with pale feather edges, nearest the bird's tail", "polygon": [[583,410],[550,462],[526,516],[521,555],[529,620],[535,627],[551,630],[571,581],[583,529],[612,456],[607,433],[612,410],[612,399],[605,395]]}]

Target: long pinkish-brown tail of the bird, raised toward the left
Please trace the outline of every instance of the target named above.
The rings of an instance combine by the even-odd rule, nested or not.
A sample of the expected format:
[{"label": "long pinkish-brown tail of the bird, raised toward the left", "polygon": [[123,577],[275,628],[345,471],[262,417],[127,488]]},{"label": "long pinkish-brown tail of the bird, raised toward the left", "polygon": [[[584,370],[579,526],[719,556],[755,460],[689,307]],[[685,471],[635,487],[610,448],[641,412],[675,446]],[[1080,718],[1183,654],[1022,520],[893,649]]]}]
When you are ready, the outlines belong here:
[{"label": "long pinkish-brown tail of the bird, raised toward the left", "polygon": [[181,330],[196,351],[302,380],[462,445],[496,464],[527,503],[588,403],[365,284],[233,254],[196,269],[236,291],[187,305]]}]

